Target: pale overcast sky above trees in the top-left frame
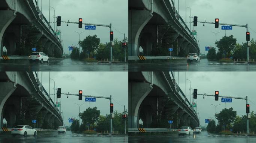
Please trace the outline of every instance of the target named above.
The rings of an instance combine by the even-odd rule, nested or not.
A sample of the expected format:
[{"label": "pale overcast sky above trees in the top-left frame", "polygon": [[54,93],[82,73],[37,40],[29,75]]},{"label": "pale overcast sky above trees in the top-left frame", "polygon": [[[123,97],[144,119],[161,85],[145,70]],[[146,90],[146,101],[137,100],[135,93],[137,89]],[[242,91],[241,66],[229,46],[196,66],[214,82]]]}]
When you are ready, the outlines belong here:
[{"label": "pale overcast sky above trees in the top-left frame", "polygon": [[[41,9],[41,0],[38,1]],[[50,0],[50,6],[54,7],[55,16],[61,16],[61,21],[78,22],[79,18],[83,18],[83,23],[104,25],[112,23],[114,38],[123,40],[124,33],[128,37],[128,0]],[[43,15],[47,20],[49,19],[49,0],[43,0]],[[50,22],[54,21],[53,15],[54,10],[51,8]],[[53,23],[51,26],[54,28]],[[110,41],[108,27],[96,26],[96,30],[89,31],[85,30],[84,25],[83,28],[78,28],[78,24],[69,23],[67,26],[67,23],[61,23],[58,29],[61,29],[65,53],[68,53],[68,46],[78,44],[79,34],[76,32],[84,32],[80,35],[81,40],[90,32],[91,36],[96,34],[101,43]]]}]

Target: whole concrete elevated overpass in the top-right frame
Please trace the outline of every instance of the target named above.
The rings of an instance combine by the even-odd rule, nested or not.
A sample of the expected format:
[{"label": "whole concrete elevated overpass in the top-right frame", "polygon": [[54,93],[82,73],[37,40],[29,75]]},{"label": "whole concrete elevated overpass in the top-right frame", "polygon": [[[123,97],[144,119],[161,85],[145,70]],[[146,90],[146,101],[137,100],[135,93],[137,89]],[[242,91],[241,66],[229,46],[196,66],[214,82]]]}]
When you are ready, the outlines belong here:
[{"label": "whole concrete elevated overpass in the top-right frame", "polygon": [[196,38],[171,0],[129,0],[129,56],[159,55],[157,48],[173,48],[173,56],[198,53]]}]

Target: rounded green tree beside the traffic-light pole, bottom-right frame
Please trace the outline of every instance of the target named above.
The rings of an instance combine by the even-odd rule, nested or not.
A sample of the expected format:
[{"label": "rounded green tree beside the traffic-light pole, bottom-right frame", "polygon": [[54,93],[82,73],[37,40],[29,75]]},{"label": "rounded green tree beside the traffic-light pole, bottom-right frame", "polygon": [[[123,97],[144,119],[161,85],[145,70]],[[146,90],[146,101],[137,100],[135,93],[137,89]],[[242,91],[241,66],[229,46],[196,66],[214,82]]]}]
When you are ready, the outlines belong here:
[{"label": "rounded green tree beside the traffic-light pole, bottom-right frame", "polygon": [[215,117],[219,121],[219,124],[221,125],[228,125],[230,127],[230,124],[234,122],[235,117],[237,115],[237,111],[233,111],[233,108],[225,108],[220,111],[219,114],[215,114]]}]

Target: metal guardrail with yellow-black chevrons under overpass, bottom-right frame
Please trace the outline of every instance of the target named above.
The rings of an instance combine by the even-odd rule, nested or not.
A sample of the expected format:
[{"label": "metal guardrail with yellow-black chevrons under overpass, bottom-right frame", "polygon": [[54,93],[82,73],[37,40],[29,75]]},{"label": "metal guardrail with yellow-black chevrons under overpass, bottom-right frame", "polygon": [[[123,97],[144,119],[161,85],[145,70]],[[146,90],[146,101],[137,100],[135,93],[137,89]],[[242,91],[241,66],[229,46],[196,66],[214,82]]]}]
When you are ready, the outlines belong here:
[{"label": "metal guardrail with yellow-black chevrons under overpass, bottom-right frame", "polygon": [[178,131],[178,129],[173,128],[128,128],[128,132],[170,132]]}]

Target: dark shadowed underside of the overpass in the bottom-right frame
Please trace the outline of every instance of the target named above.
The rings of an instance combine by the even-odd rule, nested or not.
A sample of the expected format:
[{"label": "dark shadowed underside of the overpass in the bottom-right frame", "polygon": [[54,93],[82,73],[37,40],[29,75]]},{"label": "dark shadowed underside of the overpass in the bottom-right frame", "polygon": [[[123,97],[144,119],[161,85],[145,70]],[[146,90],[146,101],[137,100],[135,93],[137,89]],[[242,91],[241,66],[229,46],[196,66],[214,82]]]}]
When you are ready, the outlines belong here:
[{"label": "dark shadowed underside of the overpass in the bottom-right frame", "polygon": [[[195,114],[172,98],[174,93],[166,94],[155,77],[153,81],[150,85],[141,72],[129,73],[129,128],[198,127]],[[168,124],[168,120],[173,120],[173,124]]]}]

